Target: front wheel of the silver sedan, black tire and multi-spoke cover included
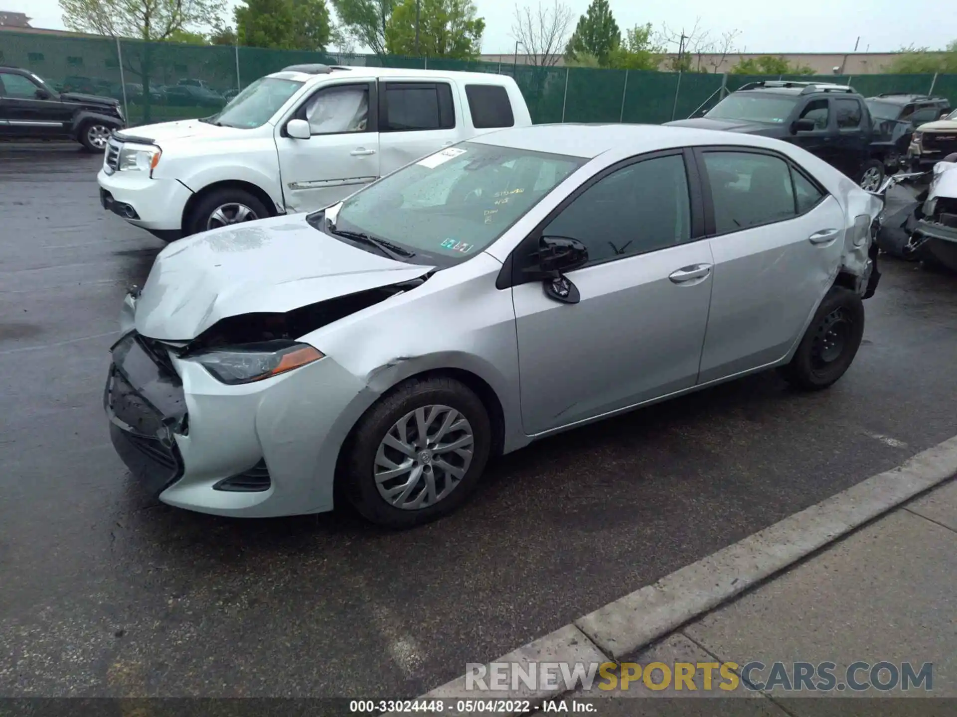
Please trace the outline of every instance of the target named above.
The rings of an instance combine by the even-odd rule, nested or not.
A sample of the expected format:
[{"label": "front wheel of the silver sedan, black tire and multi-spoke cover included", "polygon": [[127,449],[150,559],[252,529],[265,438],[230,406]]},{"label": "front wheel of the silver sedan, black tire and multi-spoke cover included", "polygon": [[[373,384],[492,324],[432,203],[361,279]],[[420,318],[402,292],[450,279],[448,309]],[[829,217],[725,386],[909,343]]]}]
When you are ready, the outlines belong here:
[{"label": "front wheel of the silver sedan, black tire and multi-spoke cover included", "polygon": [[488,462],[492,427],[465,384],[399,384],[360,419],[345,446],[345,495],[367,520],[412,528],[455,511]]}]

